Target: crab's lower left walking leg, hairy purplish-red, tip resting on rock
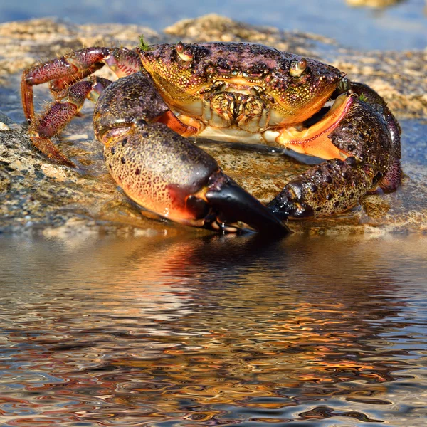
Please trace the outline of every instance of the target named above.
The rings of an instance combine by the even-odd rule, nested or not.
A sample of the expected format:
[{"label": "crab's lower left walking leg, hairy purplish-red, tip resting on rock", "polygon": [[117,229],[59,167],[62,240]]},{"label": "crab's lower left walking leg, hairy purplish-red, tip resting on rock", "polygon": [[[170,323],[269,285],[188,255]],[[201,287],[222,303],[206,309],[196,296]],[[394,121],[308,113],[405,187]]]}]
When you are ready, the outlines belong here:
[{"label": "crab's lower left walking leg, hairy purplish-red, tip resting on rock", "polygon": [[91,81],[80,81],[56,95],[46,110],[31,122],[28,134],[33,146],[55,162],[75,166],[62,154],[51,138],[57,135],[83,107],[88,98],[96,101],[99,94],[111,82],[105,78],[93,78]]}]

